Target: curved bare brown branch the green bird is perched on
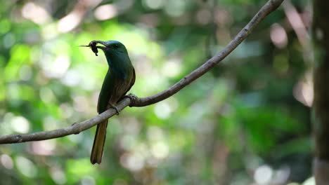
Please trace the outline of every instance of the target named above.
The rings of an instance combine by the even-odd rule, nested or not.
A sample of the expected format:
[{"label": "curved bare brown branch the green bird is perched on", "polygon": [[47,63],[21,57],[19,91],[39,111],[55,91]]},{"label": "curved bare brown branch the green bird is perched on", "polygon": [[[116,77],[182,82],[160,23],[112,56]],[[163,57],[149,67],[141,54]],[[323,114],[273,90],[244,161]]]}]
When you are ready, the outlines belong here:
[{"label": "curved bare brown branch the green bird is perched on", "polygon": [[[179,82],[172,85],[172,87],[167,90],[158,93],[157,95],[153,95],[151,97],[125,97],[122,101],[117,104],[117,108],[119,110],[124,109],[127,106],[130,107],[144,107],[150,104],[155,104],[162,100],[171,97],[184,88],[186,85],[192,83],[197,78],[207,73],[210,69],[212,69],[216,64],[224,60],[224,58],[230,54],[243,40],[247,38],[247,36],[252,32],[252,30],[261,22],[266,15],[273,12],[280,6],[283,0],[269,0],[259,11],[254,18],[250,20],[250,22],[234,37],[228,45],[221,50],[221,52],[217,53],[214,57],[209,59],[207,62],[202,64],[202,66],[195,69],[190,74],[186,75]],[[72,134],[79,134],[84,130],[87,130],[102,121],[114,116],[116,114],[115,109],[108,109],[107,111],[99,114],[89,120],[82,121],[80,123],[74,123],[67,128],[61,128],[58,130],[44,131],[44,132],[34,132],[32,134],[25,135],[4,135],[0,137],[0,144],[11,144],[11,143],[20,143],[20,142],[32,142],[32,141],[40,141],[46,139],[53,139],[58,137],[64,137]]]}]

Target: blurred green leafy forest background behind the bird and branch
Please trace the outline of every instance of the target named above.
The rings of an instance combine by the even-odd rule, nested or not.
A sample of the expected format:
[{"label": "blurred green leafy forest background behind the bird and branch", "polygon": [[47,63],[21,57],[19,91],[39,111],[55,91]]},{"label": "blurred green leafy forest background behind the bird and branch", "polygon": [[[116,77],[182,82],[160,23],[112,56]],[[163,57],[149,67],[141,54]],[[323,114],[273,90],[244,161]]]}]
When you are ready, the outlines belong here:
[{"label": "blurred green leafy forest background behind the bird and branch", "polygon": [[[96,116],[108,70],[79,45],[124,43],[138,97],[160,93],[243,28],[264,0],[46,0],[0,6],[0,135]],[[0,146],[0,184],[308,184],[311,4],[286,0],[217,67],[176,95],[95,128]],[[309,179],[307,181],[307,179]],[[306,181],[306,182],[305,182]]]}]

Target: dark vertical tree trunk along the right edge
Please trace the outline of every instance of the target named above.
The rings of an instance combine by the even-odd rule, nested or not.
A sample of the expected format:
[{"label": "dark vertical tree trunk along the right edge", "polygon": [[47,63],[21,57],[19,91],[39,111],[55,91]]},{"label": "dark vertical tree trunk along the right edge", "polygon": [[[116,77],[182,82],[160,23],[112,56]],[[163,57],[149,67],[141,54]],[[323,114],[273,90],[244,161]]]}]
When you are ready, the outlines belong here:
[{"label": "dark vertical tree trunk along the right edge", "polygon": [[314,0],[314,176],[316,184],[329,184],[329,1]]}]

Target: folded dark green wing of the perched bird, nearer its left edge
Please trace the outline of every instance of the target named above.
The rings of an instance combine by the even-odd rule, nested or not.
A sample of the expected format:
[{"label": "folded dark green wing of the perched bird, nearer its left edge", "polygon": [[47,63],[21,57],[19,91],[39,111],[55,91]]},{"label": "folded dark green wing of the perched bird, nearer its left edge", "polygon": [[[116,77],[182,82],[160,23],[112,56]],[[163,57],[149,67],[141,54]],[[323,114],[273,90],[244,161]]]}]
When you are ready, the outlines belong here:
[{"label": "folded dark green wing of the perched bird, nearer its left edge", "polygon": [[101,93],[99,93],[98,96],[98,103],[97,103],[97,111],[98,114],[101,114],[103,111],[106,111],[108,107],[108,101],[110,100],[110,97],[113,93],[113,85],[115,83],[115,76],[111,75],[110,70],[108,70],[108,73],[105,76],[105,79],[103,81],[103,85],[101,88]]}]

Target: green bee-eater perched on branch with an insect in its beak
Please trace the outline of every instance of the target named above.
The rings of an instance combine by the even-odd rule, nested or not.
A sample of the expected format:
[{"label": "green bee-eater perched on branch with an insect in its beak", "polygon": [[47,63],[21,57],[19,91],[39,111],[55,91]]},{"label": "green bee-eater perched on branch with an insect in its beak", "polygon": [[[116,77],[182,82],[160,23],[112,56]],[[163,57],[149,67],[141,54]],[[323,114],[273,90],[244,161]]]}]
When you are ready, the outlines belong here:
[{"label": "green bee-eater perched on branch with an insect in its beak", "polygon": [[[103,46],[97,46],[98,43]],[[90,47],[96,56],[98,49],[103,50],[108,62],[108,72],[105,75],[101,92],[98,96],[98,114],[110,108],[115,109],[117,114],[119,114],[120,111],[115,104],[127,94],[131,86],[134,85],[136,78],[135,69],[131,64],[127,48],[120,41],[91,41],[85,47]],[[101,164],[107,126],[108,120],[97,125],[91,149],[91,164]]]}]

